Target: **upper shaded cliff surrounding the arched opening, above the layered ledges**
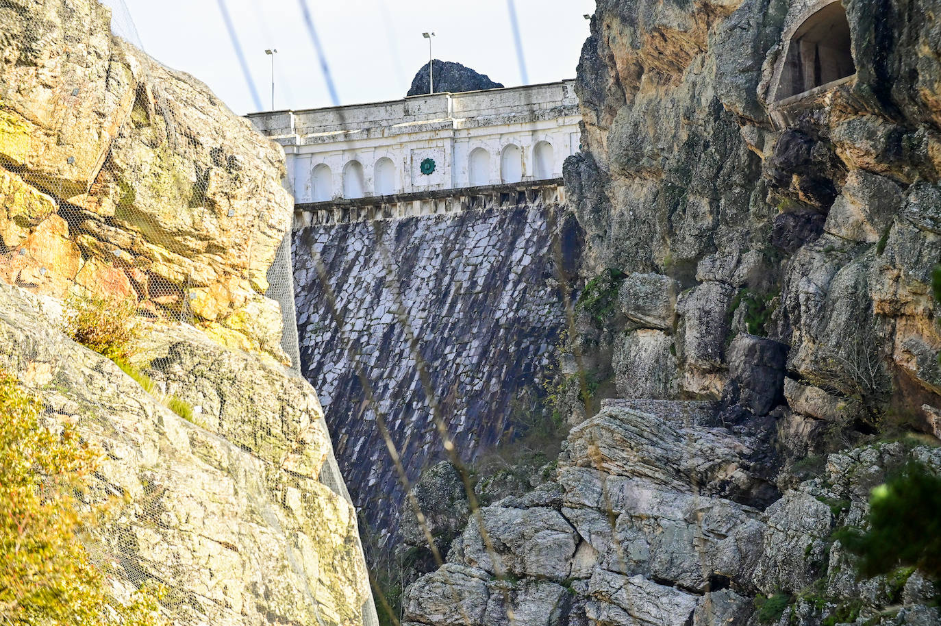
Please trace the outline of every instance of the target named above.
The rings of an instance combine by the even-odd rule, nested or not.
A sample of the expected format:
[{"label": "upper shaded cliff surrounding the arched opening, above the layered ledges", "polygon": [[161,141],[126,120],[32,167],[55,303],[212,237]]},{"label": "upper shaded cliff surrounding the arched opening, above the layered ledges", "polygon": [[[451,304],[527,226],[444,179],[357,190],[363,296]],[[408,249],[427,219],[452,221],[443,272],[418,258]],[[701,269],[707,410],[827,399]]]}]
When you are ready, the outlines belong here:
[{"label": "upper shaded cliff surrounding the arched opening, above the layered ledges", "polygon": [[[937,25],[912,15],[936,7],[831,5],[598,2],[577,83],[585,152],[568,162],[566,184],[586,277],[631,277],[622,289],[635,303],[601,337],[614,359],[598,369],[623,380],[619,392],[734,396],[727,385],[756,356],[727,349],[744,333],[786,350],[778,379],[761,374],[772,387],[786,370],[789,387],[837,397],[845,417],[876,422],[910,407],[933,431],[941,68]],[[787,99],[791,38],[824,18],[845,20],[856,72]],[[650,306],[639,276],[678,282],[675,304],[658,303],[669,311],[634,313]],[[588,326],[582,334],[597,332]],[[655,342],[655,330],[666,336]],[[657,371],[641,369],[650,362]],[[783,400],[746,404],[766,414]],[[800,413],[791,421],[825,412],[790,409]]]}]

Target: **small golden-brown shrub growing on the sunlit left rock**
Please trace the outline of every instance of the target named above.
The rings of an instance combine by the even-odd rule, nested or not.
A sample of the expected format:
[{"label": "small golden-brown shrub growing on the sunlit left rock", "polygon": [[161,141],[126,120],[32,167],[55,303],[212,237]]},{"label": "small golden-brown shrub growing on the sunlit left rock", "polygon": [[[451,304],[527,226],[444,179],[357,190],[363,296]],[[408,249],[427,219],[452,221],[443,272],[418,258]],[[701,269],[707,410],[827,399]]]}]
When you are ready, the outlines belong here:
[{"label": "small golden-brown shrub growing on the sunlit left rock", "polygon": [[129,300],[100,296],[70,297],[64,330],[75,342],[111,360],[126,359],[136,337],[136,307]]}]

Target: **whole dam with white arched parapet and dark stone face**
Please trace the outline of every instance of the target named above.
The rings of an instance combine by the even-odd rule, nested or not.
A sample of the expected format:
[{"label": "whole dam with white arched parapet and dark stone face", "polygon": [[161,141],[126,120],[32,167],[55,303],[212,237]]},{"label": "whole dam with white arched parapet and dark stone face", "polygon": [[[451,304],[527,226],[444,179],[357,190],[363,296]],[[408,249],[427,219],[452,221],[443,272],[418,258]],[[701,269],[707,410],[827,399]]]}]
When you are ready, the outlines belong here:
[{"label": "whole dam with white arched parapet and dark stone face", "polygon": [[[287,154],[300,368],[366,522],[502,441],[542,392],[580,236],[573,81],[250,116]],[[384,436],[384,429],[388,434]]]}]

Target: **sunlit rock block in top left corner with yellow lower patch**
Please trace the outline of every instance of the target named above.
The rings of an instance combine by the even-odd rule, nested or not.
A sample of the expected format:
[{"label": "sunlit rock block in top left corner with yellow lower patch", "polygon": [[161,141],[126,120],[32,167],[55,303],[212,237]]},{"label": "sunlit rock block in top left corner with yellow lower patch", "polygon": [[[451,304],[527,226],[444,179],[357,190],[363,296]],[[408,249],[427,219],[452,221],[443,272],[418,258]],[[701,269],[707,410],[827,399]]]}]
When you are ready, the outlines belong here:
[{"label": "sunlit rock block in top left corner with yellow lower patch", "polygon": [[0,158],[42,191],[81,204],[134,104],[140,59],[113,55],[96,0],[0,7]]}]

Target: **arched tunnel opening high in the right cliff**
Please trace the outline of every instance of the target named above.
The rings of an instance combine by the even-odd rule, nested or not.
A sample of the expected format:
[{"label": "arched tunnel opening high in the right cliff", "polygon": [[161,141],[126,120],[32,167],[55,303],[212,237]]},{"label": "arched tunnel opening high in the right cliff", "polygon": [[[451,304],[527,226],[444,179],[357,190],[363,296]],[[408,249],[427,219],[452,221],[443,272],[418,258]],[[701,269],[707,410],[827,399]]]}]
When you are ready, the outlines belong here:
[{"label": "arched tunnel opening high in the right cliff", "polygon": [[852,43],[846,10],[838,0],[807,17],[790,38],[777,100],[853,76]]}]

